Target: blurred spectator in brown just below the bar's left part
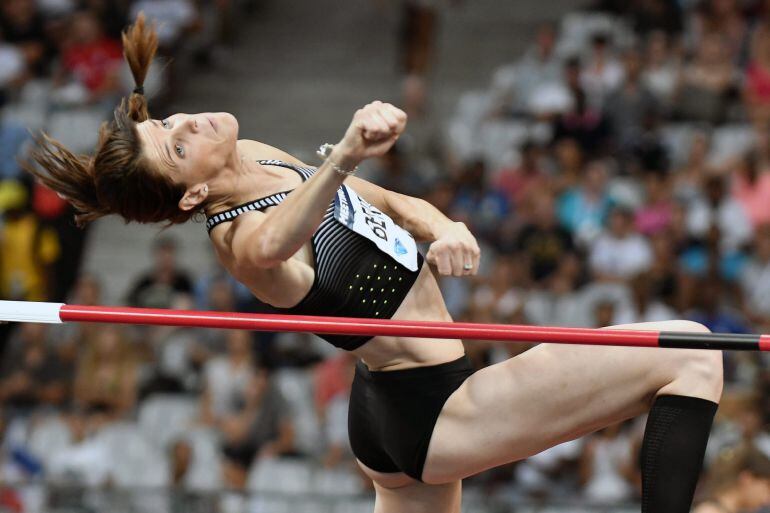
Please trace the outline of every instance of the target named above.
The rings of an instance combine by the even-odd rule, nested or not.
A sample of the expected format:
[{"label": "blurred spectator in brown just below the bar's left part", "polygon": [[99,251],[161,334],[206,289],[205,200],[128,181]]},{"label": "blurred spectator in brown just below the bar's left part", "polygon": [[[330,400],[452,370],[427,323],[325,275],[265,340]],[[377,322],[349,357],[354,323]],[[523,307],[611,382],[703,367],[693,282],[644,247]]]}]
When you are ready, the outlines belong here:
[{"label": "blurred spectator in brown just below the bar's left part", "polygon": [[87,341],[75,378],[75,404],[104,420],[129,414],[136,405],[137,361],[124,332],[104,325]]}]

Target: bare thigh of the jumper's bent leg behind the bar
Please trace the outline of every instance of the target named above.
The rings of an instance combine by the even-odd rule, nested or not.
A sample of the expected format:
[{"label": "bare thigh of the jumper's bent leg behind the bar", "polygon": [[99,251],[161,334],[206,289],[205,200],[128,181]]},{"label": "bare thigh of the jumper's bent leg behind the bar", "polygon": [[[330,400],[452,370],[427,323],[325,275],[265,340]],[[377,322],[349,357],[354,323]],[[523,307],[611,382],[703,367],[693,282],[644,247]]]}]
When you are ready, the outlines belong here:
[{"label": "bare thigh of the jumper's bent leg behind the bar", "polygon": [[[676,321],[632,327],[697,329]],[[541,344],[482,369],[444,405],[423,481],[467,477],[639,415],[689,352]]]}]

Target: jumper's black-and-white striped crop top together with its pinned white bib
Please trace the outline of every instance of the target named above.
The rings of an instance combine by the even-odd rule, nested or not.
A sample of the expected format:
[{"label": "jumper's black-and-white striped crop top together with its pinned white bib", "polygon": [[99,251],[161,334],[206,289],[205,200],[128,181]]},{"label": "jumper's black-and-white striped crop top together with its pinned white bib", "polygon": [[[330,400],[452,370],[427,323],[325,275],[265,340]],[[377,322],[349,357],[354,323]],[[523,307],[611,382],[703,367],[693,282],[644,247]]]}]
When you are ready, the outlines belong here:
[{"label": "jumper's black-and-white striped crop top together with its pinned white bib", "polygon": [[[281,160],[257,162],[291,169],[303,182],[316,172],[316,168]],[[289,193],[291,190],[282,191],[214,214],[206,219],[206,228],[211,232],[245,212],[278,205]],[[315,278],[310,291],[291,308],[271,307],[276,313],[390,318],[412,288],[424,261],[407,231],[346,185],[337,190],[313,234],[311,246]],[[348,351],[372,338],[318,336]]]}]

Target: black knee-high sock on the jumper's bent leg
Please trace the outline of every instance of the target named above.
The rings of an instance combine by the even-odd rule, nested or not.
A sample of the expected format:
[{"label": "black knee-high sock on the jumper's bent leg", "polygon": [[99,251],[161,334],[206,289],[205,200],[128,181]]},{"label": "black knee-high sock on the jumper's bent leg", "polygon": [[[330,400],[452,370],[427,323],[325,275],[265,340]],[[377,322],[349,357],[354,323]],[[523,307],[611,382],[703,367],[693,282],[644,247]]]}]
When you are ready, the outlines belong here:
[{"label": "black knee-high sock on the jumper's bent leg", "polygon": [[688,513],[717,404],[697,397],[655,399],[642,442],[642,513]]}]

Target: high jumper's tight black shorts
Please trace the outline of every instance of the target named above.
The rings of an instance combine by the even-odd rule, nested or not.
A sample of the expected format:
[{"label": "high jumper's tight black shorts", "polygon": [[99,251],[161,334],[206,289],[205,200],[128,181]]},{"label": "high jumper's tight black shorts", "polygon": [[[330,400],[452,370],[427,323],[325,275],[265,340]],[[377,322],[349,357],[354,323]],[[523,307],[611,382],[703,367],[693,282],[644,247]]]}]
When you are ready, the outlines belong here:
[{"label": "high jumper's tight black shorts", "polygon": [[472,373],[466,356],[431,367],[376,372],[359,361],[348,410],[353,454],[377,472],[403,472],[421,481],[441,409]]}]

